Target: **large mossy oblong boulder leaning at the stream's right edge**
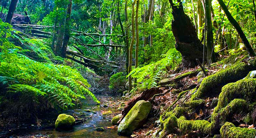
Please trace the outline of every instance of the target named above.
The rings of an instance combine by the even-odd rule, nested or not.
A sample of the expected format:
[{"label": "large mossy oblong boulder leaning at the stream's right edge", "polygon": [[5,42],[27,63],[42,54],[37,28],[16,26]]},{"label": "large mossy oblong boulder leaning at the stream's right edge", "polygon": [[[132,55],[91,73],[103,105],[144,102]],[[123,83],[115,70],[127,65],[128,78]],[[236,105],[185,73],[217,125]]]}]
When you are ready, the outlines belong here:
[{"label": "large mossy oblong boulder leaning at the stream's right edge", "polygon": [[143,126],[143,123],[147,119],[151,108],[152,105],[149,101],[138,101],[119,124],[118,134],[130,136],[132,131]]}]

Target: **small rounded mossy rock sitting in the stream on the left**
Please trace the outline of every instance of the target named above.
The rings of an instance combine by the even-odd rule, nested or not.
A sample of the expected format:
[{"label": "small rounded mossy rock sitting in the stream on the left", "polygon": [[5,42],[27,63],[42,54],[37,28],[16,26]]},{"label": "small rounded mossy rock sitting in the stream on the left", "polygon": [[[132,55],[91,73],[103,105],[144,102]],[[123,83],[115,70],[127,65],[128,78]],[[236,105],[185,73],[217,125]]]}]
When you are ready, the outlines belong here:
[{"label": "small rounded mossy rock sitting in the stream on the left", "polygon": [[55,122],[56,129],[71,129],[74,125],[75,118],[66,114],[60,114]]}]

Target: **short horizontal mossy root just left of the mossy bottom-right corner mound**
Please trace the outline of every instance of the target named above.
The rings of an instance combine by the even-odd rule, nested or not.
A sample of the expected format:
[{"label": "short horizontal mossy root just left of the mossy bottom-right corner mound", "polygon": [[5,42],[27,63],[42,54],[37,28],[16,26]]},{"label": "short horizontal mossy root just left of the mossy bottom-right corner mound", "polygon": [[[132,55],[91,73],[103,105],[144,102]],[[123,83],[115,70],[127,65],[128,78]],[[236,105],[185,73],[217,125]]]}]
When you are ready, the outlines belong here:
[{"label": "short horizontal mossy root just left of the mossy bottom-right corner mound", "polygon": [[191,121],[191,120],[186,120],[186,118],[182,116],[178,119],[178,126],[183,133],[185,133],[188,130],[189,131],[200,130],[205,134],[211,133],[211,124],[206,120]]}]

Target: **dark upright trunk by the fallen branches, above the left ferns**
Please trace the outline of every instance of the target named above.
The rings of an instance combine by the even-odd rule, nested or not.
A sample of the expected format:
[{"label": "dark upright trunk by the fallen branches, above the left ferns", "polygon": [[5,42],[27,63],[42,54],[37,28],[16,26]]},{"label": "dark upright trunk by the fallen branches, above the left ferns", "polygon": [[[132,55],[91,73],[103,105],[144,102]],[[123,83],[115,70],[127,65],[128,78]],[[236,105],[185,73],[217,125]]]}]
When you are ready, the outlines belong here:
[{"label": "dark upright trunk by the fallen branches, above the left ferns", "polygon": [[71,8],[72,8],[72,0],[69,0],[67,6],[67,16],[66,16],[66,23],[65,23],[65,34],[64,34],[64,41],[61,48],[61,56],[63,58],[66,57],[67,52],[67,44],[70,38],[70,17],[71,17]]}]

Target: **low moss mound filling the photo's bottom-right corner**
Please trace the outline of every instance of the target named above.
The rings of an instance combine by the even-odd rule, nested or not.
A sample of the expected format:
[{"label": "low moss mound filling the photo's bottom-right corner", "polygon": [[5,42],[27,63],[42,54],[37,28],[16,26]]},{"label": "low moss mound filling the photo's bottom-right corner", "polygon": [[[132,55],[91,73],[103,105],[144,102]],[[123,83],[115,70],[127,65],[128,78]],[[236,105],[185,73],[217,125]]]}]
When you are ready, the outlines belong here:
[{"label": "low moss mound filling the photo's bottom-right corner", "polygon": [[255,138],[256,130],[235,127],[234,124],[226,122],[220,129],[222,138]]}]

